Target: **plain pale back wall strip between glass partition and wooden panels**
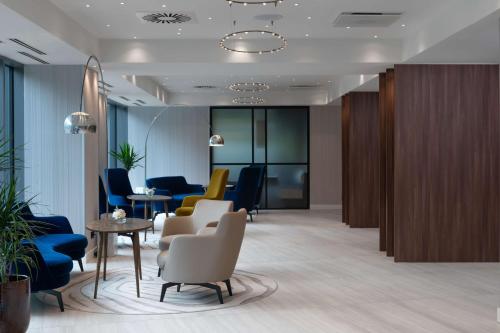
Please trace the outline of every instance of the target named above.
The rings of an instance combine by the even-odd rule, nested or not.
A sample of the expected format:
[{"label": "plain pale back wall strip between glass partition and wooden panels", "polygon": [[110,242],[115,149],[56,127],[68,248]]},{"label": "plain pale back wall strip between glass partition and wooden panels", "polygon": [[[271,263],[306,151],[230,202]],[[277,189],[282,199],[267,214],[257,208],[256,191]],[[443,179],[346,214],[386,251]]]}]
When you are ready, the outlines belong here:
[{"label": "plain pale back wall strip between glass partition and wooden panels", "polygon": [[311,208],[342,204],[342,126],[339,106],[312,106]]}]

